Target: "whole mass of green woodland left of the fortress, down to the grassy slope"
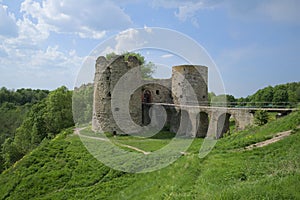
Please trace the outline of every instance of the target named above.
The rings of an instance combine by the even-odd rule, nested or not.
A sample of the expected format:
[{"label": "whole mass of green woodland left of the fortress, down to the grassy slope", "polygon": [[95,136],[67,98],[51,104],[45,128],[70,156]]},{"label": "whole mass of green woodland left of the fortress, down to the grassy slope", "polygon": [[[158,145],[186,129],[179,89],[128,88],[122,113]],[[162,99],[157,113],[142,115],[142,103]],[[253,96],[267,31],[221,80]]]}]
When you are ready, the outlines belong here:
[{"label": "whole mass of green woodland left of the fortress, down to the grassy slope", "polygon": [[0,90],[0,172],[36,148],[74,125],[72,92],[66,87],[54,91]]}]

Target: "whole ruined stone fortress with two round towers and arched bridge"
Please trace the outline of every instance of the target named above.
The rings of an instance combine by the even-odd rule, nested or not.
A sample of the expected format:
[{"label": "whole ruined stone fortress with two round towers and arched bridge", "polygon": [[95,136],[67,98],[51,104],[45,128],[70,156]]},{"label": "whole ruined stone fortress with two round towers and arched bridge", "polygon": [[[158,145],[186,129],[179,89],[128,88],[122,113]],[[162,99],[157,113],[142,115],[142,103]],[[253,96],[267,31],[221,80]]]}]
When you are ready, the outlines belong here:
[{"label": "whole ruined stone fortress with two round towers and arched bridge", "polygon": [[[165,129],[192,137],[222,137],[229,131],[231,116],[235,119],[237,130],[244,129],[253,122],[253,110],[208,106],[206,66],[174,66],[170,79],[154,80],[144,80],[139,66],[140,63],[135,56],[129,56],[128,60],[122,55],[109,60],[104,56],[98,57],[94,77],[92,118],[94,131],[114,135],[126,134],[114,117],[114,113],[121,113],[124,107],[128,109],[129,118],[135,125],[147,126],[152,121],[151,107],[154,105],[163,106],[165,109]],[[133,76],[126,78],[126,74],[132,70]],[[118,82],[122,78],[125,82],[120,86]],[[129,92],[130,94],[124,92],[136,84],[141,86]],[[124,105],[113,105],[114,98],[118,98],[117,100]],[[121,116],[119,119],[125,127],[126,124],[132,126],[127,118]]]}]

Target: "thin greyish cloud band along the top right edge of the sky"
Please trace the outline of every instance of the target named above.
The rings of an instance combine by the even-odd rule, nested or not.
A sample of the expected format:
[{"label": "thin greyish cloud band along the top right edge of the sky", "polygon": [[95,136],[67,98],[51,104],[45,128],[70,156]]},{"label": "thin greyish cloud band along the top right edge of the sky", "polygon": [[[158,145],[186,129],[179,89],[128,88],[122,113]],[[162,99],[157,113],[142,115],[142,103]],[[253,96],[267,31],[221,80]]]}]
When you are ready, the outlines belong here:
[{"label": "thin greyish cloud band along the top right edge of the sky", "polygon": [[180,21],[190,21],[195,27],[199,27],[197,13],[204,9],[215,8],[225,9],[231,17],[242,20],[300,22],[299,0],[154,0],[151,5],[176,9],[174,15]]}]

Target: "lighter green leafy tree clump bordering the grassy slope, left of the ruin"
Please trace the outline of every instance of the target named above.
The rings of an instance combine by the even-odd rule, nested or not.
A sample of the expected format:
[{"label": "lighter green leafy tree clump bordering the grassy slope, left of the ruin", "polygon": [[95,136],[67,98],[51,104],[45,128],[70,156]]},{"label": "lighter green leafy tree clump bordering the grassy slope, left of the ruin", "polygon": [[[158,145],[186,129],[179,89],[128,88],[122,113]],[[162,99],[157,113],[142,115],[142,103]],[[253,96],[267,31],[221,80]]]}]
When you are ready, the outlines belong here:
[{"label": "lighter green leafy tree clump bordering the grassy slope, left of the ruin", "polygon": [[35,104],[17,129],[14,145],[25,155],[41,141],[74,125],[72,92],[66,87],[52,91],[46,99]]}]

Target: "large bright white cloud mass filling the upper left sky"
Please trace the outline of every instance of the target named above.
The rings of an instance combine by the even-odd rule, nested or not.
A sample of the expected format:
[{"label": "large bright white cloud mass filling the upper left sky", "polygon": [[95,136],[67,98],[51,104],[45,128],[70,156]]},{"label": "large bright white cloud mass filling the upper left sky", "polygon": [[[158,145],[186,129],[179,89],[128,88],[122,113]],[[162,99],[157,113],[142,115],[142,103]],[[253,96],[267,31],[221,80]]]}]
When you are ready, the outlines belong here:
[{"label": "large bright white cloud mass filling the upper left sky", "polygon": [[18,19],[6,9],[0,7],[0,27],[4,19],[10,20],[18,33],[15,37],[2,37],[0,31],[0,39],[3,39],[0,85],[10,88],[73,86],[84,59],[75,50],[61,50],[55,41],[49,41],[53,32],[58,33],[60,39],[66,35],[99,39],[107,31],[132,24],[130,17],[111,1],[24,0]]}]

